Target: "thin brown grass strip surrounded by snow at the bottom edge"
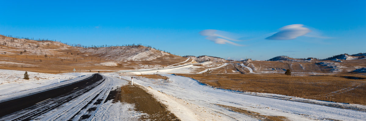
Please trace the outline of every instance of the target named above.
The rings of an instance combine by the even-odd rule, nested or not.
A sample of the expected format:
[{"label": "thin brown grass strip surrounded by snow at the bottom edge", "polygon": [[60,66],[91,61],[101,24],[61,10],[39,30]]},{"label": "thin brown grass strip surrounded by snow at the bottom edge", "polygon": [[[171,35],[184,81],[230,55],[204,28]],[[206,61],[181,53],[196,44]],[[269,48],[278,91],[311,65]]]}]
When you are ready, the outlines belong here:
[{"label": "thin brown grass strip surrounded by snow at the bottom edge", "polygon": [[240,108],[236,108],[233,106],[221,105],[221,104],[215,104],[215,105],[218,105],[225,109],[231,110],[233,112],[242,113],[242,114],[245,114],[245,115],[253,117],[253,118],[258,118],[261,121],[287,121],[288,120],[286,117],[283,117],[283,116],[266,116],[266,115],[261,115],[260,113],[257,113],[257,112],[240,109]]}]

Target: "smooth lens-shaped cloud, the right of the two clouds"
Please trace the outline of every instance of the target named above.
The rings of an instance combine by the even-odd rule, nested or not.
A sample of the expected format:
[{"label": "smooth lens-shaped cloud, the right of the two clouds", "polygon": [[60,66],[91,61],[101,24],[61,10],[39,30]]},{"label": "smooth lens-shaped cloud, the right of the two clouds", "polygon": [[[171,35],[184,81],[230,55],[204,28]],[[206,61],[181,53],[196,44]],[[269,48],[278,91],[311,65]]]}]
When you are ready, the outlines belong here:
[{"label": "smooth lens-shaped cloud, the right of the two clouds", "polygon": [[299,36],[304,36],[311,32],[309,28],[302,27],[303,24],[292,24],[280,28],[280,31],[266,39],[270,40],[290,40],[296,39]]}]

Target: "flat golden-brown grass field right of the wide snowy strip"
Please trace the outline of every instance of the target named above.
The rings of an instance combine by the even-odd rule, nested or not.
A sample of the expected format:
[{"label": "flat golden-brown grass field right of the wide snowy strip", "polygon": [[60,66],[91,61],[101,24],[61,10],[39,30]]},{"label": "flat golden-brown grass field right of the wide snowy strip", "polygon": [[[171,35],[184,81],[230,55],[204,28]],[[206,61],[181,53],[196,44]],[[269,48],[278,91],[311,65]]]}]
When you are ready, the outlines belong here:
[{"label": "flat golden-brown grass field right of the wide snowy strip", "polygon": [[278,74],[178,74],[211,86],[290,95],[308,99],[366,105],[366,76],[350,75],[287,76]]}]

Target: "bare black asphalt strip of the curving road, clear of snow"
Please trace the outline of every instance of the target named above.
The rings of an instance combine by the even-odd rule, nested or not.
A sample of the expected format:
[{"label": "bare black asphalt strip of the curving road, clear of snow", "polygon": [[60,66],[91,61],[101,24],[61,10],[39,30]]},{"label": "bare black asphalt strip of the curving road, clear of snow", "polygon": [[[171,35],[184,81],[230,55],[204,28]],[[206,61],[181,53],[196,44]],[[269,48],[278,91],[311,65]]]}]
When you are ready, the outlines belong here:
[{"label": "bare black asphalt strip of the curving road, clear of snow", "polygon": [[36,94],[28,95],[25,97],[20,97],[12,100],[8,100],[0,103],[0,117],[6,116],[8,114],[23,110],[25,108],[36,105],[40,102],[47,101],[48,99],[56,98],[61,95],[68,94],[75,90],[80,90],[83,87],[87,87],[95,82],[102,79],[100,74],[94,74],[91,77],[74,82],[68,85],[63,85],[55,89],[41,91]]}]

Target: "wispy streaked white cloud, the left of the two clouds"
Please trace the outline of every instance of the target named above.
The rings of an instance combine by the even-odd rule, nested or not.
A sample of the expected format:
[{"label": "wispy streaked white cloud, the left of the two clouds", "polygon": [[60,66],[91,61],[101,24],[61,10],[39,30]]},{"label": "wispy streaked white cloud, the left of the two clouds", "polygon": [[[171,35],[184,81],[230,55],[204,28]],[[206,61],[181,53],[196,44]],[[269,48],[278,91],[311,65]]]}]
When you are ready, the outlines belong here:
[{"label": "wispy streaked white cloud, the left of the two clouds", "polygon": [[[243,46],[241,44],[236,44],[234,42],[231,41],[242,41],[242,40],[236,40],[236,39],[232,39],[228,36],[222,35],[222,34],[217,34],[220,32],[224,32],[224,31],[219,31],[219,30],[202,30],[199,32],[200,35],[202,36],[207,36],[205,39],[208,39],[212,42],[215,42],[216,44],[232,44],[235,46]],[[231,40],[231,41],[230,41]]]}]

